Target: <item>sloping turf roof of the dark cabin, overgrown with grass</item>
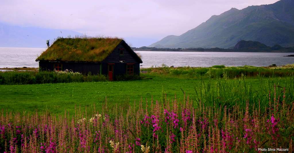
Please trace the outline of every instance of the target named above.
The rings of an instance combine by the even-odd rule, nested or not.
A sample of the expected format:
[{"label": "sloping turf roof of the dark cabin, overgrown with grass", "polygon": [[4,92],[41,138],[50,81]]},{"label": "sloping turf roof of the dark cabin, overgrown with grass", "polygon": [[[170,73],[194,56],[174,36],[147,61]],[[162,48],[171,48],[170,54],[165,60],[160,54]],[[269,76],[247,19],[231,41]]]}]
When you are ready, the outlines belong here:
[{"label": "sloping turf roof of the dark cabin, overgrown with grass", "polygon": [[121,41],[120,38],[58,38],[36,60],[101,62]]}]

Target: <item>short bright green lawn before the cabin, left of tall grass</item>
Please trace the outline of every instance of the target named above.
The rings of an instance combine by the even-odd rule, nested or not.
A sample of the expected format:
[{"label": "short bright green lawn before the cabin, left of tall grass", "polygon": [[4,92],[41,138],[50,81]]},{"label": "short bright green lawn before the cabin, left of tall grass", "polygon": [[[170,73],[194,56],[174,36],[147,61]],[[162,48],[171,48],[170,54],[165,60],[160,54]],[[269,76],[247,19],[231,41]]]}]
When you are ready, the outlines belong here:
[{"label": "short bright green lawn before the cabin, left of tall grass", "polygon": [[45,110],[61,113],[75,106],[99,106],[105,102],[127,104],[142,98],[160,100],[162,90],[169,97],[183,97],[181,88],[193,94],[199,80],[154,78],[152,80],[56,83],[36,85],[1,85],[0,108],[12,111]]}]

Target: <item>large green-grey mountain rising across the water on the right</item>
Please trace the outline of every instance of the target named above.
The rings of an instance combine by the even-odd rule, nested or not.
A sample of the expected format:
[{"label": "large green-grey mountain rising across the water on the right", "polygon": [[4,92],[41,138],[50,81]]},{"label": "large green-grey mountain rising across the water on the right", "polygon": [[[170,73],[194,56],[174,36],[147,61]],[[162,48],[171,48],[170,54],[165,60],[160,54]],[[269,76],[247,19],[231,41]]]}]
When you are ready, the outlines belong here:
[{"label": "large green-grey mountain rising across the water on the right", "polygon": [[148,47],[230,48],[241,40],[294,46],[294,1],[281,0],[242,10],[232,8],[180,36],[167,36]]}]

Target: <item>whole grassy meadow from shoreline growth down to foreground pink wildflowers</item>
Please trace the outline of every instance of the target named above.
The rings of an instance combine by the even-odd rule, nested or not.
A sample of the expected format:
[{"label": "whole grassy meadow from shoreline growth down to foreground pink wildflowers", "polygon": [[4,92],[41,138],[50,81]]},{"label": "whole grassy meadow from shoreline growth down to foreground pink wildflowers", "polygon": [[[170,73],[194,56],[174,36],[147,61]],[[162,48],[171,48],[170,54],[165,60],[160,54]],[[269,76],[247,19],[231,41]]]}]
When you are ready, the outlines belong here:
[{"label": "whole grassy meadow from shoreline growth down to foreground pink wildflowers", "polygon": [[0,152],[292,151],[293,67],[163,65],[142,80],[0,85]]}]

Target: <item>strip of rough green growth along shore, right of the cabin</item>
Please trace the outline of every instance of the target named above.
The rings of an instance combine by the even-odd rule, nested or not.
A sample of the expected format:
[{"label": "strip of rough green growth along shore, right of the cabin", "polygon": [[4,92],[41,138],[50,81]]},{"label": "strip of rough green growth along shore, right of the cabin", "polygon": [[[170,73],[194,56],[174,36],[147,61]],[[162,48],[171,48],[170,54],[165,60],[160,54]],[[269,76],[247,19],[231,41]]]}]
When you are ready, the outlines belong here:
[{"label": "strip of rough green growth along shore, right of the cabin", "polygon": [[[287,66],[287,65],[286,65]],[[265,77],[284,77],[294,73],[293,65],[287,67],[255,67],[255,66],[238,66],[238,67],[225,67],[224,65],[215,65],[209,68],[191,68],[191,67],[159,67],[159,68],[146,68],[147,75],[164,75],[165,77],[175,78],[223,78],[224,74],[227,78],[240,78],[241,75],[247,77],[257,77],[258,75]]]}]

